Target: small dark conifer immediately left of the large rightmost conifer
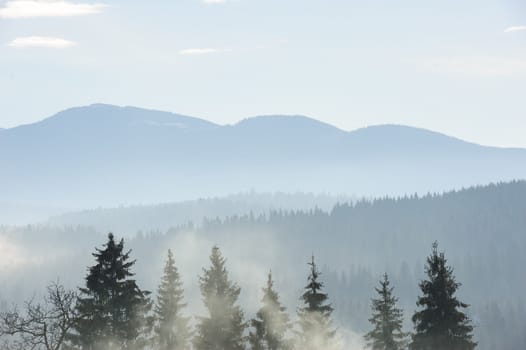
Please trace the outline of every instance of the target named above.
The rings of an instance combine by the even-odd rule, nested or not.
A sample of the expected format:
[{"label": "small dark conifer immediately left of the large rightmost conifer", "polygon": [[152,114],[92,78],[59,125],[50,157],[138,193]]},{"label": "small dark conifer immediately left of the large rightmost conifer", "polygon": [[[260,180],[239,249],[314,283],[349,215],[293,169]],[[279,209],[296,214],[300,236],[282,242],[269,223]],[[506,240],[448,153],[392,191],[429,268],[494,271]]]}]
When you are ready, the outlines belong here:
[{"label": "small dark conifer immediately left of the large rightmost conifer", "polygon": [[374,329],[365,335],[368,346],[373,350],[405,349],[407,334],[402,332],[403,311],[397,308],[398,298],[393,296],[389,277],[384,274],[380,288],[375,288],[378,299],[372,300],[372,317],[369,322]]}]

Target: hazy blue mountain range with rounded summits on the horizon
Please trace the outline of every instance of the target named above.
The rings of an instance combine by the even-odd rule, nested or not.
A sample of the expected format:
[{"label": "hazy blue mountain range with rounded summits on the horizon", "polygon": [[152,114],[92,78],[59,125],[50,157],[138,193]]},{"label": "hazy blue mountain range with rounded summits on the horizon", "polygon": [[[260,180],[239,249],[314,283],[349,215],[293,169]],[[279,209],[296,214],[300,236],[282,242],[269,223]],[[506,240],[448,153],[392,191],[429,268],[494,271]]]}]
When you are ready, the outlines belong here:
[{"label": "hazy blue mountain range with rounded summits on the horizon", "polygon": [[96,104],[0,133],[0,201],[85,208],[240,191],[399,195],[526,178],[526,150],[304,116],[234,125]]}]

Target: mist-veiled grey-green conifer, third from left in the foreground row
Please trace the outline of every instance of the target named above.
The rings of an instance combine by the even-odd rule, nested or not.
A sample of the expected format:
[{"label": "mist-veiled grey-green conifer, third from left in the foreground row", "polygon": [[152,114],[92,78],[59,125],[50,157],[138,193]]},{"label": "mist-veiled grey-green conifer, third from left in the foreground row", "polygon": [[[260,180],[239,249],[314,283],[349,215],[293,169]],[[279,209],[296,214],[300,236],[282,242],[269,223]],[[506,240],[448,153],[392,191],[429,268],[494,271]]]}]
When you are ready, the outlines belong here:
[{"label": "mist-veiled grey-green conifer, third from left in the foreground row", "polygon": [[246,323],[243,312],[236,305],[241,289],[230,281],[226,260],[217,246],[212,248],[211,266],[203,269],[199,278],[201,295],[208,317],[201,317],[197,325],[194,346],[197,350],[243,350]]}]

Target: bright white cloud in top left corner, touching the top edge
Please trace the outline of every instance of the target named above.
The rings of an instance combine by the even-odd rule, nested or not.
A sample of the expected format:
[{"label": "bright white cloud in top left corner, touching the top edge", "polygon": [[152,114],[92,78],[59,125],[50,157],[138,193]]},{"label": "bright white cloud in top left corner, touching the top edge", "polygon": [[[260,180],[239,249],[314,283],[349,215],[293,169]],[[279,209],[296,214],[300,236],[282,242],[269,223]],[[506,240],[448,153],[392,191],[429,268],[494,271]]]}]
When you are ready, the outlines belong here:
[{"label": "bright white cloud in top left corner, touching the top edge", "polygon": [[106,4],[83,4],[65,0],[11,0],[0,8],[0,18],[69,17],[99,13]]}]

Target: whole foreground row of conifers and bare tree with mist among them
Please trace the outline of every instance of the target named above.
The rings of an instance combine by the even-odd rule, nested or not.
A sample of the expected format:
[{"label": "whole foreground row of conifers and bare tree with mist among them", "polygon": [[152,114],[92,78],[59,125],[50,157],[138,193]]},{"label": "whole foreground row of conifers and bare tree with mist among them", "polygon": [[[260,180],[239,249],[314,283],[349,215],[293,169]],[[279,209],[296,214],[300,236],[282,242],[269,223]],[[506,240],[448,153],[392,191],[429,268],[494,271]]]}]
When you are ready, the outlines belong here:
[{"label": "whole foreground row of conifers and bare tree with mist among them", "polygon": [[358,345],[334,324],[334,307],[314,256],[307,263],[307,281],[295,312],[282,305],[270,271],[262,281],[259,309],[247,318],[239,305],[241,288],[231,279],[219,247],[213,246],[209,266],[199,276],[204,312],[191,317],[172,251],[152,295],[137,284],[136,260],[124,240],[116,241],[110,233],[92,254],[95,264],[83,286],[67,290],[53,282],[42,301],[32,299],[0,314],[2,349],[474,349],[472,321],[463,312],[468,305],[455,295],[461,284],[438,244],[432,248],[427,279],[419,284],[419,309],[412,316],[414,331],[403,330],[403,310],[384,274],[371,302],[371,330]]}]

